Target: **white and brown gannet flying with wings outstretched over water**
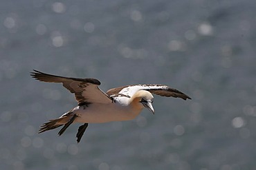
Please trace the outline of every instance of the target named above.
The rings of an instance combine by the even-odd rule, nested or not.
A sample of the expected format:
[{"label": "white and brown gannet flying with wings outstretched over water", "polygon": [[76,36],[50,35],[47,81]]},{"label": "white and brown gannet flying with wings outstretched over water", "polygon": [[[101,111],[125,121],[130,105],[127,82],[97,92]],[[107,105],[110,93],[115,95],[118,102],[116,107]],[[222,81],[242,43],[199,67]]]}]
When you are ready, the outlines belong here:
[{"label": "white and brown gannet flying with wings outstretched over water", "polygon": [[109,89],[107,93],[104,93],[99,88],[100,81],[95,78],[55,76],[37,70],[30,72],[30,76],[38,81],[62,83],[66,89],[75,94],[77,107],[67,111],[60,118],[44,123],[39,133],[63,126],[58,133],[61,136],[72,123],[84,123],[78,128],[77,142],[80,142],[89,123],[132,120],[140,114],[143,108],[149,109],[154,114],[152,94],[184,100],[191,99],[167,85],[126,85]]}]

